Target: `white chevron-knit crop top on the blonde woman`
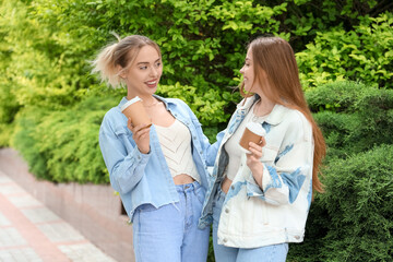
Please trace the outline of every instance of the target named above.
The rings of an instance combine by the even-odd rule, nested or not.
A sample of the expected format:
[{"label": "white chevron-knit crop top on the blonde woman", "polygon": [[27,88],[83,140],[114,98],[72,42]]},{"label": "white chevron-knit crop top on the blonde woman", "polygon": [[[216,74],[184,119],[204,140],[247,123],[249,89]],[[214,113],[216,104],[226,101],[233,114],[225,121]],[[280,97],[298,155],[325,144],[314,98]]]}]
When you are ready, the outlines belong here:
[{"label": "white chevron-knit crop top on the blonde woman", "polygon": [[170,175],[176,177],[186,174],[201,182],[195,163],[192,159],[189,129],[177,119],[167,128],[160,126],[155,126],[155,128]]}]

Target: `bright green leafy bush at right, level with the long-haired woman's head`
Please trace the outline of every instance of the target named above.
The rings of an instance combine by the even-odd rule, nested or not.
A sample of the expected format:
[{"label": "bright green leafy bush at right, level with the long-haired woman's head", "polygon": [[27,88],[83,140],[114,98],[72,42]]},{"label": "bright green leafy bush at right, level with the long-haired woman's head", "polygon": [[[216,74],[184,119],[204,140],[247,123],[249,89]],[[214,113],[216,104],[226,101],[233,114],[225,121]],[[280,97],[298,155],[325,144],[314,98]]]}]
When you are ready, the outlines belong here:
[{"label": "bright green leafy bush at right, level with the long-haired woman's head", "polygon": [[393,14],[360,21],[350,32],[342,26],[318,32],[307,49],[296,53],[306,87],[361,80],[393,88]]}]

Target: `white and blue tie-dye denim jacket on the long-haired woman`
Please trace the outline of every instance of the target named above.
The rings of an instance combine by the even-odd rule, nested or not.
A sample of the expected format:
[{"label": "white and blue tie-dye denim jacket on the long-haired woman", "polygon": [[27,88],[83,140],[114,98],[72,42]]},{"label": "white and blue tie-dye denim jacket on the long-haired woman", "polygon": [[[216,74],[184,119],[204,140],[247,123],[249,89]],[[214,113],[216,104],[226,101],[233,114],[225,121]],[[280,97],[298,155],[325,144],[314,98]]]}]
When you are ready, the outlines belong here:
[{"label": "white and blue tie-dye denim jacket on the long-haired woman", "polygon": [[[257,96],[240,103],[229,120],[210,177],[200,227],[212,223],[214,195],[224,179],[228,154],[224,144],[234,134]],[[262,189],[242,155],[227,192],[218,225],[218,243],[257,248],[282,242],[301,242],[312,195],[312,128],[298,110],[275,105],[261,122],[266,131],[263,147]]]}]

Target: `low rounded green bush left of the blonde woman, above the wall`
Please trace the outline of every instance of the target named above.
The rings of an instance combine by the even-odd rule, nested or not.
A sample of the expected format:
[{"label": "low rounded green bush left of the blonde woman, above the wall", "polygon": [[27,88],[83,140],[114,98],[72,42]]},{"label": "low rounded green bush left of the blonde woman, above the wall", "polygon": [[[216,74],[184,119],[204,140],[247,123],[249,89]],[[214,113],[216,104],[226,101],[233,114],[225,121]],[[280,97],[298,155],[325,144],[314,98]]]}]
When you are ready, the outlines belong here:
[{"label": "low rounded green bush left of the blonde woman, above the wall", "polygon": [[105,112],[119,97],[90,96],[68,110],[24,110],[17,118],[13,146],[27,160],[31,171],[55,182],[108,183],[98,145]]}]

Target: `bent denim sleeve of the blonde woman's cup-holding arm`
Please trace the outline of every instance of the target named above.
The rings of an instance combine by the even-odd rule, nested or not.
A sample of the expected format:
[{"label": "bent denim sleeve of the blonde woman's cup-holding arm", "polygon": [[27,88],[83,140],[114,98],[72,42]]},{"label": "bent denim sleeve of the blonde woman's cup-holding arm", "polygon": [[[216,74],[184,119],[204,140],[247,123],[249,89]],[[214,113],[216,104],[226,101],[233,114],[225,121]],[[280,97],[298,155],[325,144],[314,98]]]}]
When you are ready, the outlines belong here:
[{"label": "bent denim sleeve of the blonde woman's cup-holding arm", "polygon": [[130,142],[126,129],[115,132],[105,119],[99,129],[99,147],[112,188],[120,193],[131,191],[144,176],[151,154],[142,154]]}]

